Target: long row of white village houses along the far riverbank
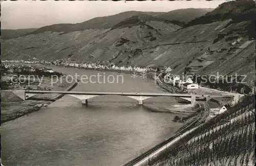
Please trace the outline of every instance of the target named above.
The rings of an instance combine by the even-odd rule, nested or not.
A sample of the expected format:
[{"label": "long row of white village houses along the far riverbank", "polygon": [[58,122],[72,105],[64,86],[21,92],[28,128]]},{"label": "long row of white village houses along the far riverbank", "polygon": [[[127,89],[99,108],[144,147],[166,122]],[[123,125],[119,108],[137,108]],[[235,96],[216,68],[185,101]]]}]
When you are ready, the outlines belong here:
[{"label": "long row of white village houses along the far riverbank", "polygon": [[[78,67],[82,69],[102,69],[102,70],[116,70],[120,72],[136,72],[136,73],[156,73],[157,76],[161,76],[167,84],[173,85],[182,91],[187,91],[187,89],[199,88],[199,84],[193,82],[193,78],[181,78],[178,75],[173,75],[172,68],[170,67],[139,67],[139,66],[116,66],[114,63],[109,62],[68,62],[63,60],[55,61],[45,61],[45,60],[4,60],[1,64],[1,70],[5,69],[6,73],[12,74],[14,72],[36,72],[36,67],[33,64],[45,64],[46,67],[40,67],[39,70],[45,73],[53,73],[54,71],[50,68],[51,65],[65,66],[65,67]],[[15,65],[20,64],[20,65]],[[25,65],[29,64],[29,65]]]}]

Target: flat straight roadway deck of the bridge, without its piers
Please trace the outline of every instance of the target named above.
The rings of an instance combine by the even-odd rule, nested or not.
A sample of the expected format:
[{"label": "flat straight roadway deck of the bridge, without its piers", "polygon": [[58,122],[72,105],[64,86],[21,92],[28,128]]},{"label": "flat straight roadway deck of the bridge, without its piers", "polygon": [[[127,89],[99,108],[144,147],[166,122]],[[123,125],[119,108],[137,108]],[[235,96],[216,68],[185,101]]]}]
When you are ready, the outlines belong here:
[{"label": "flat straight roadway deck of the bridge, without its piers", "polygon": [[25,90],[25,93],[60,93],[60,94],[89,94],[89,95],[121,95],[121,96],[170,96],[170,97],[233,97],[232,95],[202,95],[202,94],[180,94],[180,93],[144,93],[144,92],[95,92],[95,91],[59,91],[59,90]]}]

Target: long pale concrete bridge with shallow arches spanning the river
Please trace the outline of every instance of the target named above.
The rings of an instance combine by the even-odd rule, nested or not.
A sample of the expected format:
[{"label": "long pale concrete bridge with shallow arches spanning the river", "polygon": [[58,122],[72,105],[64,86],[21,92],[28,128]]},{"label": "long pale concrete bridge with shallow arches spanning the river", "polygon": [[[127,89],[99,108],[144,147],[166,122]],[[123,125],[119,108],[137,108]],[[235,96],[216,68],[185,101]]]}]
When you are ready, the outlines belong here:
[{"label": "long pale concrete bridge with shallow arches spanning the river", "polygon": [[223,98],[223,97],[233,97],[232,95],[202,95],[202,94],[179,94],[179,93],[143,93],[143,92],[93,92],[93,91],[57,91],[57,90],[13,90],[13,93],[16,94],[17,97],[23,100],[27,100],[36,94],[44,94],[44,93],[58,93],[58,94],[68,94],[74,98],[80,99],[82,104],[88,105],[88,99],[94,98],[102,95],[119,95],[126,96],[138,101],[139,105],[143,104],[143,101],[153,97],[177,97],[181,99],[185,99],[191,102],[191,105],[196,103],[198,98],[203,98],[205,101],[209,101],[211,98]]}]

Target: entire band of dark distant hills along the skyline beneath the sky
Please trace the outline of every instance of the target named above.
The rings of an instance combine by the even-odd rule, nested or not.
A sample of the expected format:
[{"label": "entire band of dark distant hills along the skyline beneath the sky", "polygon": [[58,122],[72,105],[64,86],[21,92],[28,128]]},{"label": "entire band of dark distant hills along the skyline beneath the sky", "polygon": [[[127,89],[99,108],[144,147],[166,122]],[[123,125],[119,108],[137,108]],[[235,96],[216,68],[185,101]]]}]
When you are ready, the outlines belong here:
[{"label": "entire band of dark distant hills along the skyline beneath the sky", "polygon": [[[206,14],[212,9],[178,9],[170,12],[141,12],[141,11],[127,11],[115,15],[96,17],[81,23],[60,23],[50,26],[41,27],[39,29],[20,29],[20,30],[2,30],[2,39],[16,38],[27,34],[39,34],[43,32],[64,32],[69,33],[73,31],[87,30],[87,29],[110,29],[119,22],[126,19],[133,19],[136,16],[148,20],[161,20],[166,23],[172,21],[176,25],[183,27],[184,22],[188,22],[197,17]],[[122,23],[121,23],[122,24]],[[114,27],[115,28],[115,27]]]}]

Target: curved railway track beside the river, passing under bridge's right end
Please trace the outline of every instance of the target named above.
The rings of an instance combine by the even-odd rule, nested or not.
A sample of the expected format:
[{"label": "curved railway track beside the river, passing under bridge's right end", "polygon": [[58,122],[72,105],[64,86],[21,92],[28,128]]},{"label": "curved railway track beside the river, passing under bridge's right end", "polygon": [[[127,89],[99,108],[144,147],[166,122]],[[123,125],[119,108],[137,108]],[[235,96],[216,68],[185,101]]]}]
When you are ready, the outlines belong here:
[{"label": "curved railway track beside the river, passing under bridge's right end", "polygon": [[200,124],[203,120],[204,117],[207,116],[207,113],[209,111],[209,105],[207,102],[202,102],[202,101],[198,101],[199,104],[199,108],[197,109],[201,109],[200,111],[200,115],[196,118],[195,121],[186,124],[183,129],[181,129],[180,131],[178,131],[175,135],[173,135],[172,137],[165,139],[162,143],[156,145],[155,147],[153,147],[152,149],[146,151],[145,153],[139,155],[138,157],[126,162],[125,164],[123,164],[122,166],[132,166],[135,165],[136,163],[138,163],[139,161],[141,161],[143,158],[146,158],[147,156],[151,155],[152,153],[156,152],[158,149],[162,148],[163,146],[165,146],[167,143],[169,143],[170,141],[174,140],[175,138],[177,138],[179,135],[185,133],[186,131],[190,130],[191,127]]}]

